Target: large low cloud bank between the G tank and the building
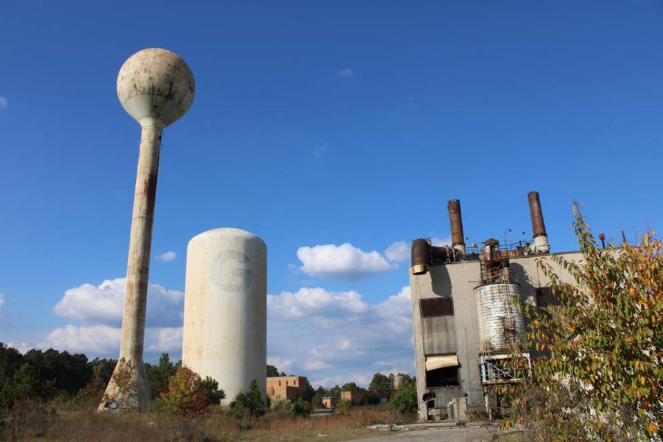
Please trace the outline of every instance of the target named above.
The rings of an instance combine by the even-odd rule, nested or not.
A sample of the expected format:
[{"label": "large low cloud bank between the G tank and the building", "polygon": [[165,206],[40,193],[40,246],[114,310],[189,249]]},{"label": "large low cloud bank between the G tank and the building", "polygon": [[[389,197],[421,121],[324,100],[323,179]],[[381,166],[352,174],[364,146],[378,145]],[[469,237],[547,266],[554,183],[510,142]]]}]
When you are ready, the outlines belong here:
[{"label": "large low cloud bank between the G tank and the building", "polygon": [[376,303],[356,291],[305,287],[268,295],[267,311],[272,360],[315,374],[314,385],[367,385],[378,371],[414,371],[410,287]]}]

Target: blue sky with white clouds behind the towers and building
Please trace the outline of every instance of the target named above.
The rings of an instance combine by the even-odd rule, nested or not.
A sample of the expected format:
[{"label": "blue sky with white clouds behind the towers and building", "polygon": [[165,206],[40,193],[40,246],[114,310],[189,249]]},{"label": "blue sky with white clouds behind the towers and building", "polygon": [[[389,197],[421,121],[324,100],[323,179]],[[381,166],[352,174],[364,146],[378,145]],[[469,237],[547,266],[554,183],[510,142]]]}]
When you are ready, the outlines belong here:
[{"label": "blue sky with white clouds behind the towers and building", "polygon": [[[146,354],[179,359],[186,244],[268,247],[268,362],[314,385],[414,374],[410,241],[663,229],[662,1],[0,2],[0,341],[117,357],[137,50],[196,81],[166,128]],[[524,234],[523,234],[524,232]],[[220,316],[222,312],[220,312]]]}]

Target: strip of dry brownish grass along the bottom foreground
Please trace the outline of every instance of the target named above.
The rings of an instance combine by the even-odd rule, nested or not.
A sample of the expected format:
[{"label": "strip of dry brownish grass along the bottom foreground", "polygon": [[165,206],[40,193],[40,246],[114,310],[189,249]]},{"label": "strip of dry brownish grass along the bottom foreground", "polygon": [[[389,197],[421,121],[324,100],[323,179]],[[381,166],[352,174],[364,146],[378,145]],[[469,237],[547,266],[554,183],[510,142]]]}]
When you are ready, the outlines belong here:
[{"label": "strip of dry brownish grass along the bottom foreground", "polygon": [[[403,416],[400,422],[408,419]],[[162,414],[96,414],[94,404],[40,405],[23,403],[0,420],[0,440],[7,441],[343,441],[379,436],[367,429],[372,423],[389,423],[385,407],[357,407],[349,416],[296,418],[268,414],[260,419],[234,418],[215,412],[199,418]],[[324,434],[324,439],[319,436]]]}]

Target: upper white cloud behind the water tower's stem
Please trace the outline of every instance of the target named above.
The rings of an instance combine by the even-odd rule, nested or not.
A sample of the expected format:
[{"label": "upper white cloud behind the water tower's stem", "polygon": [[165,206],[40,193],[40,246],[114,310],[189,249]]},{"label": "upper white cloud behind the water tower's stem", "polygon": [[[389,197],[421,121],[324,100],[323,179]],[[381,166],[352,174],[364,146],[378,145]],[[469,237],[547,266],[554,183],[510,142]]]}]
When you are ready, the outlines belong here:
[{"label": "upper white cloud behind the water tower's stem", "polygon": [[[126,278],[104,280],[95,286],[84,284],[65,291],[63,298],[53,307],[55,314],[76,319],[85,324],[122,323]],[[182,325],[184,293],[150,284],[147,292],[148,327]]]}]

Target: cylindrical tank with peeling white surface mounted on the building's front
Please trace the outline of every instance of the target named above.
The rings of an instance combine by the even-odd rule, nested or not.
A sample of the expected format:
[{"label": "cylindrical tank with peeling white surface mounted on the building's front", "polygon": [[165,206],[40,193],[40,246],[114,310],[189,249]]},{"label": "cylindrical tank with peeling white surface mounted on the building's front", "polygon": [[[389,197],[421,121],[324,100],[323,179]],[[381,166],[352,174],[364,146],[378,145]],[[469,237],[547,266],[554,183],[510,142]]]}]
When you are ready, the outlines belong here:
[{"label": "cylindrical tank with peeling white surface mounted on the building's front", "polygon": [[519,285],[512,282],[474,287],[479,315],[479,351],[508,352],[511,343],[522,343],[525,325],[516,305],[519,294]]}]

